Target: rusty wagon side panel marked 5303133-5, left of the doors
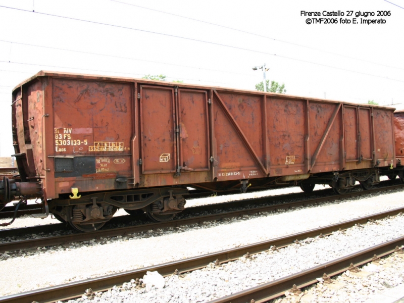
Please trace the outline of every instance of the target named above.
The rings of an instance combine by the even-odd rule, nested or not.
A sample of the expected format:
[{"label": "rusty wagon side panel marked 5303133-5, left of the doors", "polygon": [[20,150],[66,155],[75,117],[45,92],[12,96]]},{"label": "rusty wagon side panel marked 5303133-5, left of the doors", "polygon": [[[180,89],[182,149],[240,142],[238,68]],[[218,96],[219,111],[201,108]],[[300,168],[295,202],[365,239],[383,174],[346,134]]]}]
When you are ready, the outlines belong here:
[{"label": "rusty wagon side panel marked 5303133-5, left of the doors", "polygon": [[47,126],[53,134],[46,144],[53,146],[57,193],[128,186],[124,180],[133,177],[132,95],[129,83],[53,78],[53,125]]}]

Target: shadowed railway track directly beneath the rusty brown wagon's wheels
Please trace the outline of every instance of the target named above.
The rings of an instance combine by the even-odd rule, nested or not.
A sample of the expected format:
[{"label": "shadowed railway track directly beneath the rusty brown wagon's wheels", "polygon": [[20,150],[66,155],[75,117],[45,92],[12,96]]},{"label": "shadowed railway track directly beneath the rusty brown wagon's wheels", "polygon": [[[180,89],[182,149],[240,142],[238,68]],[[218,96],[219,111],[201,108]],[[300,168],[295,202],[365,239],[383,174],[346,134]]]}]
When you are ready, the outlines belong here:
[{"label": "shadowed railway track directly beneath the rusty brown wagon's wheels", "polygon": [[[317,197],[317,198],[312,198],[312,199],[307,199],[307,200],[299,200],[299,201],[283,203],[283,204],[277,203],[277,204],[272,204],[272,205],[267,205],[267,206],[259,206],[259,205],[263,204],[265,202],[268,203],[268,197],[249,199],[249,200],[239,200],[239,201],[233,201],[230,203],[220,204],[220,205],[208,205],[208,206],[194,207],[194,208],[188,209],[188,211],[187,210],[185,210],[185,211],[187,211],[188,214],[191,214],[191,213],[193,214],[193,213],[201,213],[201,212],[205,212],[205,211],[214,211],[214,210],[218,210],[218,208],[220,208],[222,211],[223,211],[223,209],[229,210],[232,208],[245,206],[245,204],[257,206],[255,208],[220,212],[220,213],[216,213],[216,214],[197,216],[197,217],[189,217],[189,218],[177,219],[177,220],[172,220],[172,221],[163,222],[163,223],[162,222],[147,223],[147,224],[136,225],[136,226],[127,226],[127,227],[120,227],[120,228],[113,228],[113,229],[102,229],[102,230],[97,230],[97,231],[88,232],[88,233],[71,233],[71,234],[66,234],[66,235],[61,235],[61,236],[45,236],[45,237],[35,238],[35,239],[3,242],[3,243],[0,243],[0,252],[5,252],[5,251],[10,252],[10,251],[15,251],[15,250],[32,249],[35,247],[62,245],[62,244],[67,244],[67,243],[72,243],[72,242],[89,241],[89,240],[93,240],[93,239],[100,239],[100,238],[106,238],[106,237],[124,236],[124,235],[129,235],[129,234],[145,232],[148,230],[156,230],[156,229],[170,228],[170,227],[175,228],[175,227],[178,227],[181,225],[201,224],[203,222],[219,221],[219,220],[224,220],[227,218],[234,218],[234,217],[239,217],[239,216],[244,216],[244,215],[254,215],[254,214],[264,213],[264,212],[274,212],[274,211],[284,210],[284,209],[293,209],[293,208],[297,208],[297,207],[301,207],[301,206],[325,203],[325,202],[333,201],[333,200],[337,200],[337,199],[358,197],[358,196],[368,195],[368,194],[372,194],[372,193],[377,193],[380,191],[388,191],[388,190],[392,190],[392,189],[402,188],[403,186],[404,185],[399,184],[399,185],[393,185],[393,186],[388,186],[388,187],[383,187],[383,188],[371,189],[371,190],[367,190],[367,191],[356,191],[356,192],[354,191],[354,192],[349,192],[349,193],[342,194],[342,195],[331,195],[331,196],[327,195],[327,196],[322,196],[322,197]],[[288,195],[288,198],[290,198],[290,196],[291,195]],[[292,196],[295,196],[295,194],[293,194]],[[301,196],[301,193],[300,193],[300,196]],[[187,215],[187,212],[185,212],[184,215]],[[126,216],[126,217],[129,217],[129,216]],[[131,219],[131,218],[129,217],[128,219]],[[55,224],[55,225],[57,225],[57,226],[52,226],[52,228],[59,227],[60,225],[64,226],[64,224]],[[20,234],[21,234],[20,229],[15,230],[15,231],[13,231],[13,230],[9,230],[9,231],[12,232],[12,234],[15,234],[16,232],[20,232]],[[49,230],[47,230],[47,233],[49,233]],[[5,236],[7,236],[6,231],[0,232],[1,238],[5,238]]]}]

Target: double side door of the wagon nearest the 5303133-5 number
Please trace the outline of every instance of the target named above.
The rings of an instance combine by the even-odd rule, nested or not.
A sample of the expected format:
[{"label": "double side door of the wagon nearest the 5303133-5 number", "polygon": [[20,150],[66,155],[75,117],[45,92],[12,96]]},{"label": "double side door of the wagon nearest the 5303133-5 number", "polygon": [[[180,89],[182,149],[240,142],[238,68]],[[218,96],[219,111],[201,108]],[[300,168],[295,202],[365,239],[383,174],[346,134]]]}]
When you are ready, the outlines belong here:
[{"label": "double side door of the wagon nearest the 5303133-5 number", "polygon": [[143,174],[210,169],[208,93],[140,85]]}]

